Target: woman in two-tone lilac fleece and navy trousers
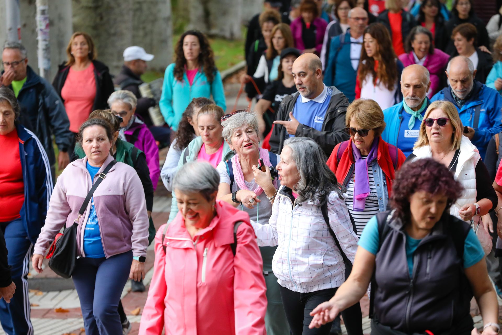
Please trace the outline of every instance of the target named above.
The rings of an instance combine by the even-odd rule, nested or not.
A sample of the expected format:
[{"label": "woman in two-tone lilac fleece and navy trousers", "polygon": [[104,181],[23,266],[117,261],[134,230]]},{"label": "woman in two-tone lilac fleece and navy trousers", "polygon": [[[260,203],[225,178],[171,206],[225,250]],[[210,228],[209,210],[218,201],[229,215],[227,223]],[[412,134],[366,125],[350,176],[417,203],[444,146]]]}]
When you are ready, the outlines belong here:
[{"label": "woman in two-tone lilac fleece and navy trousers", "polygon": [[72,279],[80,299],[85,333],[121,334],[118,301],[128,277],[145,276],[148,214],[143,186],[131,166],[117,162],[93,193],[87,209],[78,211],[113,161],[113,131],[102,119],[87,120],[79,131],[86,157],[70,163],[59,176],[33,255],[33,268],[42,272],[42,260],[60,229],[78,219],[77,254]]}]

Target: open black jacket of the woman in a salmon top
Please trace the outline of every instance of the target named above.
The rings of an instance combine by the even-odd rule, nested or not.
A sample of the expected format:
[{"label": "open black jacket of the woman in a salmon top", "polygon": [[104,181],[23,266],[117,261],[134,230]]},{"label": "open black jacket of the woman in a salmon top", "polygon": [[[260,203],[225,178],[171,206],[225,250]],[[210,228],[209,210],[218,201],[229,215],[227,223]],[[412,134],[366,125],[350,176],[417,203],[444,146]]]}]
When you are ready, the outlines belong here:
[{"label": "open black jacket of the woman in a salmon top", "polygon": [[[96,97],[94,98],[92,110],[106,109],[108,108],[108,97],[115,90],[113,81],[111,81],[110,71],[106,65],[98,60],[93,60],[92,64],[94,65],[94,77],[96,79]],[[64,63],[59,65],[59,71],[52,82],[59,97],[61,97],[61,90],[63,89],[69,71],[69,65],[65,65]],[[61,100],[63,100],[62,97]]]}]

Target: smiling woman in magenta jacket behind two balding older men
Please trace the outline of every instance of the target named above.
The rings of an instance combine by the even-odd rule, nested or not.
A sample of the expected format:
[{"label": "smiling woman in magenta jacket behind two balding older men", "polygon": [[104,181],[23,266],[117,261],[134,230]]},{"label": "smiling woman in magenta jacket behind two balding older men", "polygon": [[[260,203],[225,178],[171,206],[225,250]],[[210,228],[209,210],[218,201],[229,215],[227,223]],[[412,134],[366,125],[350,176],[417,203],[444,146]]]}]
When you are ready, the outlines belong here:
[{"label": "smiling woman in magenta jacket behind two balding older men", "polygon": [[422,26],[416,26],[406,38],[405,54],[399,55],[399,60],[404,67],[412,64],[419,64],[429,70],[431,76],[431,87],[427,92],[430,99],[441,88],[441,77],[445,76],[444,71],[450,56],[432,44],[434,39],[432,33]]}]

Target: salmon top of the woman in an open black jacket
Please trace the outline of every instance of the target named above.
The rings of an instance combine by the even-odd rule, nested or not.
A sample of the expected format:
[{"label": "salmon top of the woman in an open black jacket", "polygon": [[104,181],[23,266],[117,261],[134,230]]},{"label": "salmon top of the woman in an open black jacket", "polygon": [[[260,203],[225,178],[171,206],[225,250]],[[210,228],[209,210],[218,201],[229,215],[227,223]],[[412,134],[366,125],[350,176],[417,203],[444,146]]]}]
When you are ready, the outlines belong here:
[{"label": "salmon top of the woman in an open black jacket", "polygon": [[75,71],[70,67],[61,89],[61,97],[70,120],[70,131],[78,133],[80,126],[89,118],[96,97],[96,80],[92,63],[82,71]]}]

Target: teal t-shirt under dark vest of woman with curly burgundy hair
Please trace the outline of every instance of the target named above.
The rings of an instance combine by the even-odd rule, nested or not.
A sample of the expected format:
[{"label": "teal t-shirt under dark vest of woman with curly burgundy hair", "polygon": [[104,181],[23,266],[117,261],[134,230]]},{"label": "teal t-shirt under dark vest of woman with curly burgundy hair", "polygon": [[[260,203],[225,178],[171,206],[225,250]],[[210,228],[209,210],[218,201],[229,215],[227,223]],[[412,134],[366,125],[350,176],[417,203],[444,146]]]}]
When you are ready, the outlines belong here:
[{"label": "teal t-shirt under dark vest of woman with curly burgundy hair", "polygon": [[[408,271],[410,278],[413,273],[413,254],[422,240],[416,240],[406,235],[406,259],[408,261]],[[378,221],[376,216],[369,219],[366,227],[362,231],[361,238],[357,243],[358,246],[369,251],[371,254],[376,255],[380,244],[380,237],[378,233]],[[484,257],[484,250],[476,237],[476,234],[471,229],[465,238],[464,243],[464,269],[467,269]]]}]

